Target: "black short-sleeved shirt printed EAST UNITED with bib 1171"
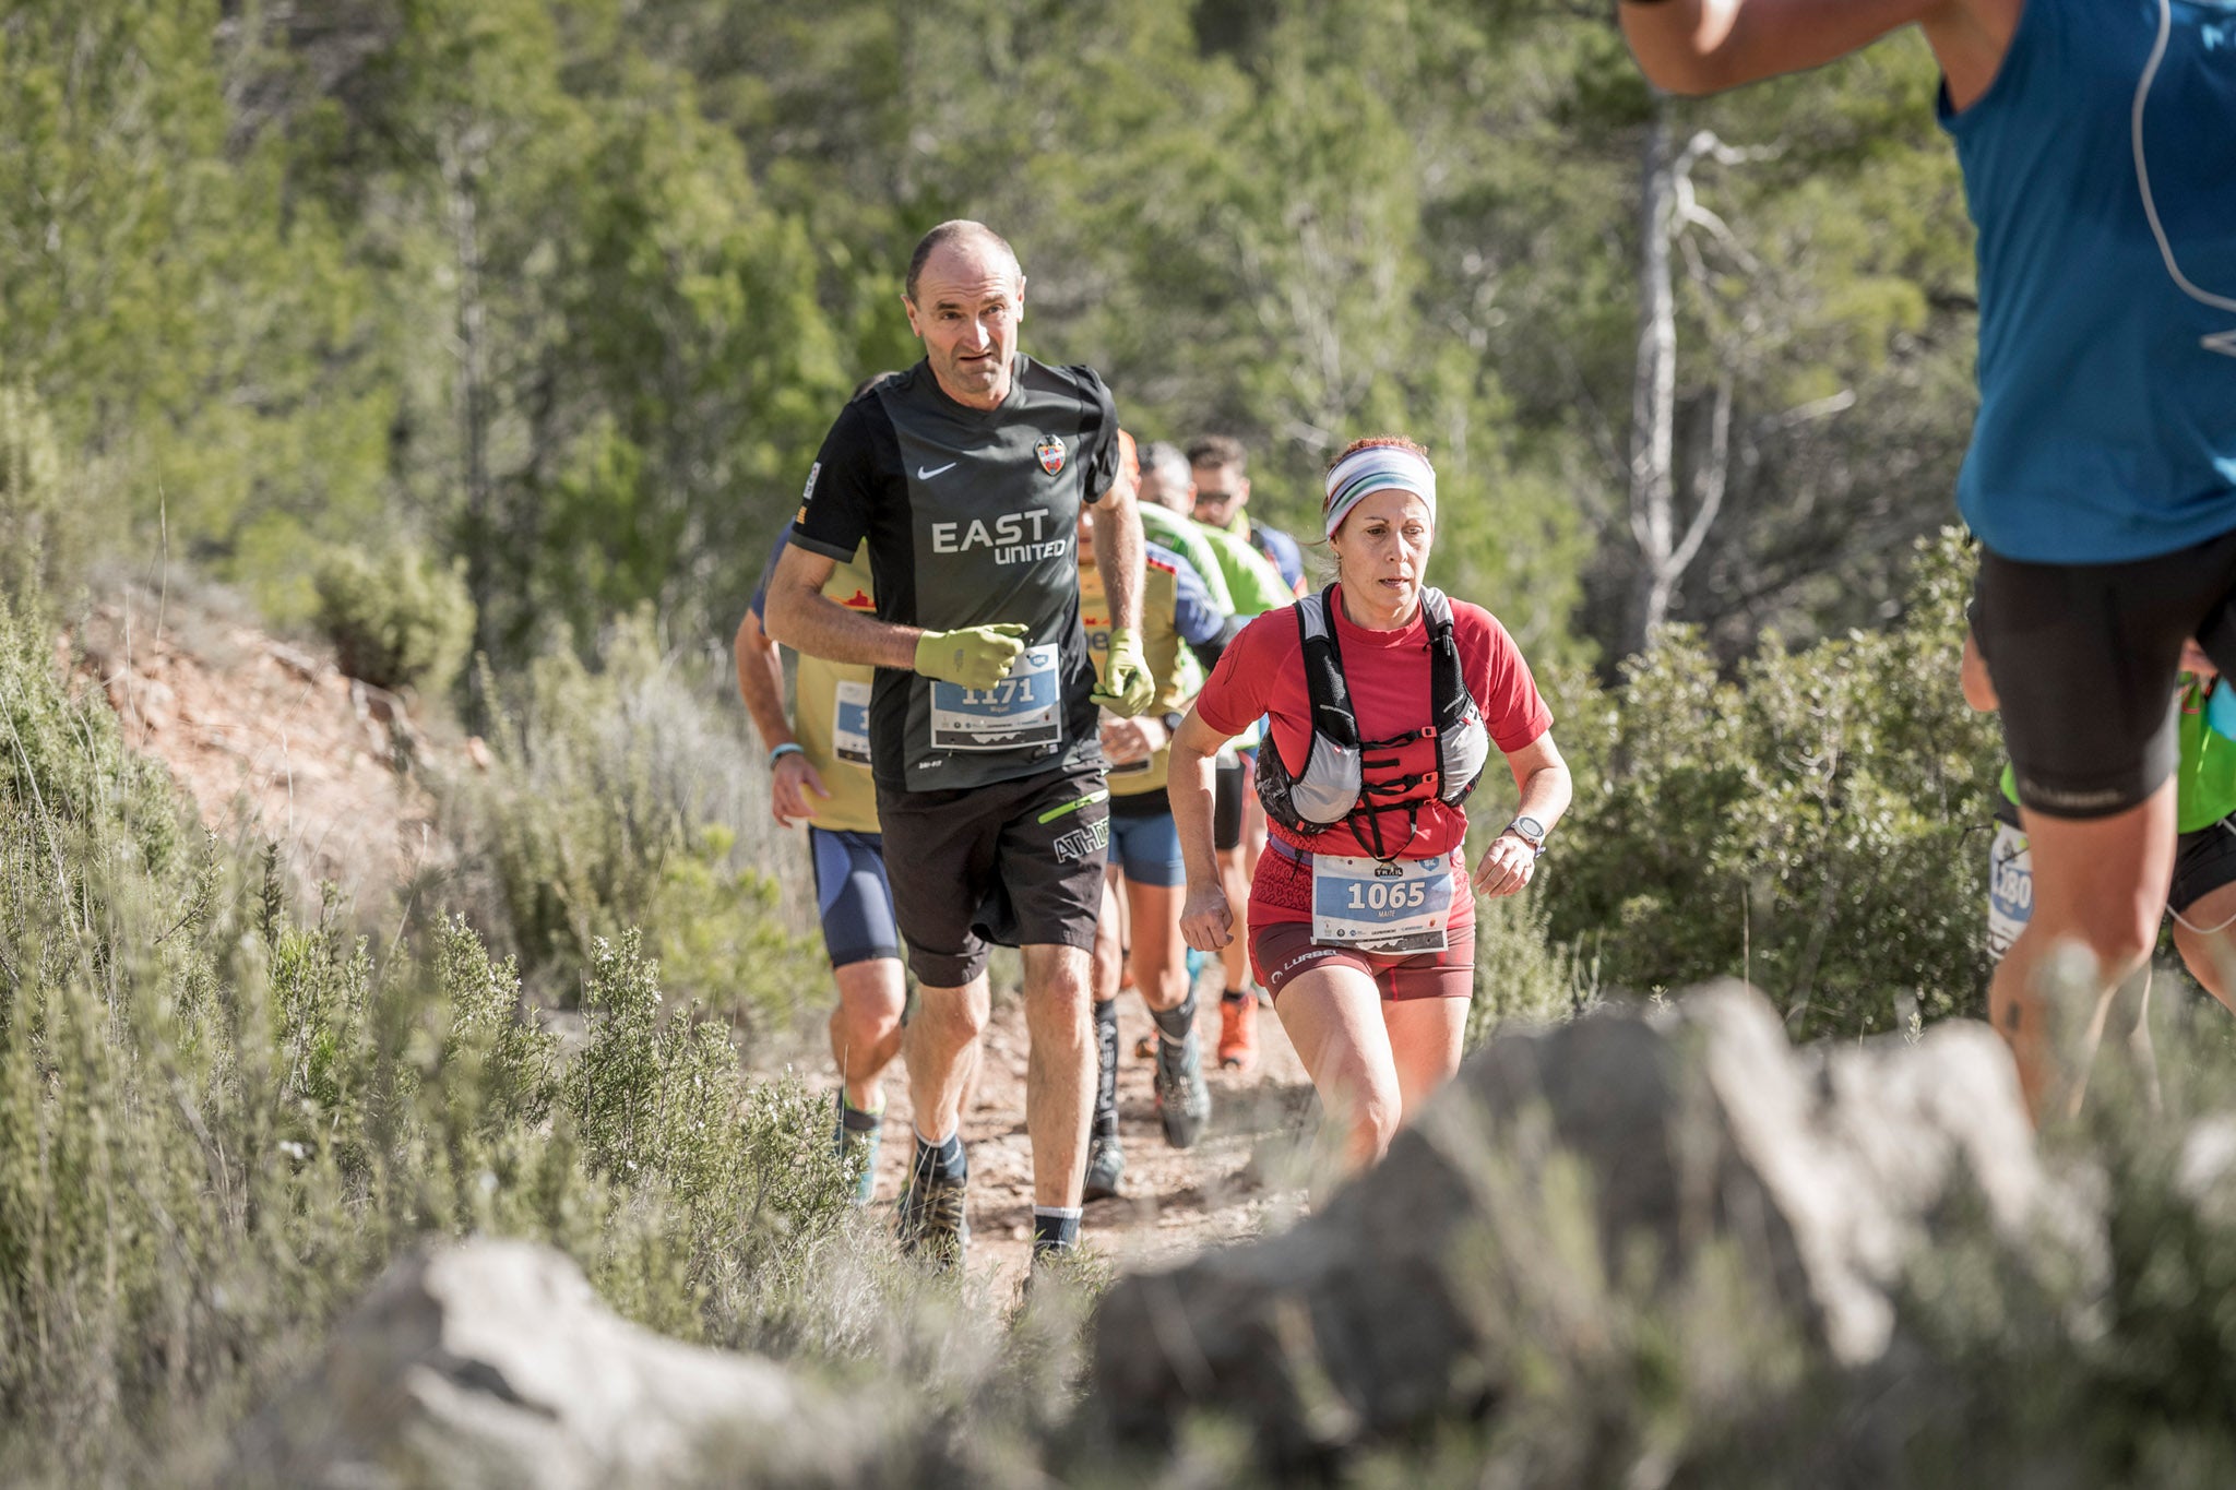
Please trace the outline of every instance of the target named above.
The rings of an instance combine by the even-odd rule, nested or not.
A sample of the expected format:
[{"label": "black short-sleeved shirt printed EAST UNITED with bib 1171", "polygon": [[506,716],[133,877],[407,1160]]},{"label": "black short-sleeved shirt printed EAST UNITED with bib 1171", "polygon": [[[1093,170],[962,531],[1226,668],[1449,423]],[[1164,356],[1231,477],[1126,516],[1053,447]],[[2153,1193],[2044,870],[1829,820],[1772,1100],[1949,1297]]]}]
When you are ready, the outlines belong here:
[{"label": "black short-sleeved shirt printed EAST UNITED with bib 1171", "polygon": [[868,541],[879,621],[1029,628],[1026,655],[988,690],[877,670],[870,762],[881,789],[950,791],[1100,764],[1073,534],[1080,505],[1116,478],[1118,411],[1084,366],[1020,355],[1008,400],[982,411],[917,362],[839,413],[792,541],[841,563]]}]

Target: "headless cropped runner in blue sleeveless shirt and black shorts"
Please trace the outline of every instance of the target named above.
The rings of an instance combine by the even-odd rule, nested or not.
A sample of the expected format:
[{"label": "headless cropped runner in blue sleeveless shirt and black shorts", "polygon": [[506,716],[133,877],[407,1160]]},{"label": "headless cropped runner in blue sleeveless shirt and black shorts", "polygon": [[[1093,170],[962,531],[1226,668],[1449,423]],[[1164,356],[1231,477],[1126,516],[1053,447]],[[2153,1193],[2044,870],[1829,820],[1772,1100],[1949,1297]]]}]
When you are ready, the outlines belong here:
[{"label": "headless cropped runner in blue sleeveless shirt and black shorts", "polygon": [[2037,970],[2095,956],[2100,1030],[2176,856],[2176,670],[2236,668],[2236,4],[1621,0],[1657,85],[1831,63],[1918,25],[1979,228],[1979,420],[1957,487],[2035,860],[1988,1007],[2037,1121],[2077,1110]]}]

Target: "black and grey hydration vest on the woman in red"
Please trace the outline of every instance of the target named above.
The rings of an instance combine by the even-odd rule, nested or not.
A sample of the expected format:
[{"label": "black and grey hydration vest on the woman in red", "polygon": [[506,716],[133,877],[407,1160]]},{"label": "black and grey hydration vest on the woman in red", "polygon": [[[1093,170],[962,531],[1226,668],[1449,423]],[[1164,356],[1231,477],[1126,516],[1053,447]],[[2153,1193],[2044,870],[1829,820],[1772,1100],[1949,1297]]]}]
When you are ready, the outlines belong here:
[{"label": "black and grey hydration vest on the woman in red", "polygon": [[[1359,739],[1359,719],[1351,713],[1351,688],[1344,684],[1344,655],[1335,643],[1328,610],[1335,585],[1295,603],[1297,632],[1304,639],[1304,686],[1313,701],[1313,735],[1304,764],[1290,773],[1279,746],[1268,739],[1257,760],[1259,802],[1266,815],[1292,833],[1324,833],[1344,822],[1359,824],[1359,840],[1373,842],[1375,858],[1391,860],[1413,842],[1420,786],[1433,786],[1433,797],[1458,806],[1482,777],[1491,757],[1491,735],[1482,726],[1476,695],[1460,677],[1460,646],[1451,637],[1451,601],[1442,590],[1424,585],[1422,617],[1429,623],[1429,719],[1424,728],[1395,739]],[[1366,766],[1391,766],[1395,757],[1368,760],[1375,751],[1398,751],[1415,739],[1436,739],[1436,771],[1366,782]],[[1411,800],[1409,800],[1411,797]],[[1406,835],[1384,853],[1382,813],[1406,809]]]}]

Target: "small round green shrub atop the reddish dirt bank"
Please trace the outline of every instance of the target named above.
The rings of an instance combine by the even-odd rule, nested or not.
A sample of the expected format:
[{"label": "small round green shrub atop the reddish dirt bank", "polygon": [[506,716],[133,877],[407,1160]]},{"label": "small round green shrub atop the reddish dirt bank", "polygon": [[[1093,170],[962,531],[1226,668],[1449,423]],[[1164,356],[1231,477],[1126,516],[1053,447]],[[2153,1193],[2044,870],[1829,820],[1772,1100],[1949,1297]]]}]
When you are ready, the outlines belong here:
[{"label": "small round green shrub atop the reddish dirt bank", "polygon": [[318,625],[349,677],[423,693],[440,693],[458,677],[474,639],[463,565],[440,565],[411,550],[367,558],[335,547],[320,561],[313,583]]}]

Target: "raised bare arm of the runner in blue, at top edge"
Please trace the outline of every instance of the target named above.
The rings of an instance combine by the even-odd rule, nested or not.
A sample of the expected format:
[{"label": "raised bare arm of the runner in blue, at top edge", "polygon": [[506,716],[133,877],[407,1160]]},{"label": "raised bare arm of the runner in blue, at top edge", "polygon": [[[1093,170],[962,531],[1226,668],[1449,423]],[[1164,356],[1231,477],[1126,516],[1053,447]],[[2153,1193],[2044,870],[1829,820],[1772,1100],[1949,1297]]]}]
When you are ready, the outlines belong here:
[{"label": "raised bare arm of the runner in blue, at top edge", "polygon": [[2017,25],[2017,0],[1623,0],[1617,9],[1639,69],[1673,94],[1822,67],[1918,22],[1959,107],[1995,78]]}]

